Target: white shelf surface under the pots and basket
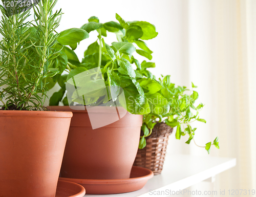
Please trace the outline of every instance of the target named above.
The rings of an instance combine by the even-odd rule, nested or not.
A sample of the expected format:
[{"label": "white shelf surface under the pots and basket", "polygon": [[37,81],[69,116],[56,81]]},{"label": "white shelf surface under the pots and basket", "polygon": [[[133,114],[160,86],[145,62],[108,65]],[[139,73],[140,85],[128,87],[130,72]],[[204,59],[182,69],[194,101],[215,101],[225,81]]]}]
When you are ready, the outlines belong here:
[{"label": "white shelf surface under the pots and basket", "polygon": [[[190,155],[166,155],[161,174],[148,180],[146,185],[134,192],[104,195],[104,197],[152,196],[150,190],[182,190],[236,166],[235,158],[197,157]],[[102,195],[87,194],[86,197]],[[165,197],[167,195],[161,195]]]}]

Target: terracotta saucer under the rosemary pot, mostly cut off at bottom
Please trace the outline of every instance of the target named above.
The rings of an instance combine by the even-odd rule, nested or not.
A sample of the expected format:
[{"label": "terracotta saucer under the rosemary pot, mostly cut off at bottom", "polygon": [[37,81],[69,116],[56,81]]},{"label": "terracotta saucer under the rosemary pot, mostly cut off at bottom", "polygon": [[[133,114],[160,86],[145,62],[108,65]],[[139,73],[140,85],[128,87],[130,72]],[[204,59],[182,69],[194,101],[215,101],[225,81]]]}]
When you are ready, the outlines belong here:
[{"label": "terracotta saucer under the rosemary pot, mostly cut off at bottom", "polygon": [[79,184],[70,181],[58,180],[55,197],[82,197],[86,190]]}]

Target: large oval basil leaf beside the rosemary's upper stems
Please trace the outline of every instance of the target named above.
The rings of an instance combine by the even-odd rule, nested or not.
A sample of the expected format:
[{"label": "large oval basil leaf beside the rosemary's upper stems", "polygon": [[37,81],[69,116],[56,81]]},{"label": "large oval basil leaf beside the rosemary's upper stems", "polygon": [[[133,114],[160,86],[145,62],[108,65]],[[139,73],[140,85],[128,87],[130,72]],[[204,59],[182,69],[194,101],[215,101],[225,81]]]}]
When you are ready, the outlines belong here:
[{"label": "large oval basil leaf beside the rosemary's upper stems", "polygon": [[89,33],[83,29],[72,28],[60,32],[58,42],[61,45],[74,45],[83,39],[89,38]]}]

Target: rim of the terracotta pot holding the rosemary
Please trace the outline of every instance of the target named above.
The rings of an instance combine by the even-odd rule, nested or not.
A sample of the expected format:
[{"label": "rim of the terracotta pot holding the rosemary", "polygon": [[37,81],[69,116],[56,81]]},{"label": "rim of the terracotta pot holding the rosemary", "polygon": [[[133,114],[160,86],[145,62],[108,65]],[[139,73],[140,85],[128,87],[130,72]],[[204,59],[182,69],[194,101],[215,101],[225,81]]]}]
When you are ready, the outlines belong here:
[{"label": "rim of the terracotta pot holding the rosemary", "polygon": [[1,110],[0,117],[45,117],[45,118],[72,118],[72,112],[54,112],[54,111],[9,111]]}]

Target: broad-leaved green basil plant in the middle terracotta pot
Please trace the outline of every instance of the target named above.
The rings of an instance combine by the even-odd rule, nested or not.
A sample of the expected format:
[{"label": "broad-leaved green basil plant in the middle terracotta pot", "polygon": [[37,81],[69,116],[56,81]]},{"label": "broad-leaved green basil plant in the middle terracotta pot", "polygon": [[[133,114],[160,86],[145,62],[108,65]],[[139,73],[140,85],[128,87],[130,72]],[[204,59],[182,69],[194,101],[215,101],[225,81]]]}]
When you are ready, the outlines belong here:
[{"label": "broad-leaved green basil plant in the middle terracotta pot", "polygon": [[[158,104],[152,103],[151,100],[159,99],[155,93],[161,89],[161,85],[147,70],[154,68],[155,63],[145,60],[140,63],[135,58],[136,55],[140,55],[148,60],[152,59],[153,52],[147,47],[144,40],[155,38],[158,35],[156,28],[146,21],[127,22],[118,14],[116,14],[116,19],[119,23],[110,21],[102,24],[97,17],[93,16],[89,18],[87,24],[80,28],[81,32],[72,34],[70,30],[65,30],[60,33],[55,48],[59,50],[56,68],[61,69],[57,75],[48,78],[48,87],[51,89],[55,83],[58,83],[61,89],[50,98],[50,105],[58,105],[60,102],[63,105],[69,105],[68,97],[64,97],[67,80],[85,71],[97,70],[98,68],[100,74],[96,75],[93,81],[78,82],[80,91],[86,87],[97,90],[100,81],[104,80],[106,86],[120,87],[118,92],[110,91],[110,94],[113,97],[113,94],[123,93],[125,99],[120,101],[120,105],[130,113],[148,114],[158,111]],[[98,36],[95,42],[84,52],[84,58],[80,62],[74,52],[77,48],[77,42],[89,37],[93,31],[97,31]],[[106,43],[103,38],[109,33],[114,33],[117,37],[117,40],[111,44]],[[80,37],[80,39],[74,40],[74,37]],[[66,74],[63,73],[64,71]],[[100,105],[107,102],[108,98],[106,98],[104,91],[95,91],[86,99],[85,103],[78,100],[73,99],[80,104]],[[165,110],[169,110],[167,102],[161,105],[166,105]]]}]

